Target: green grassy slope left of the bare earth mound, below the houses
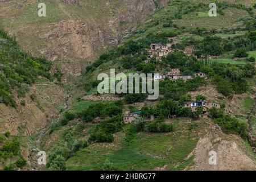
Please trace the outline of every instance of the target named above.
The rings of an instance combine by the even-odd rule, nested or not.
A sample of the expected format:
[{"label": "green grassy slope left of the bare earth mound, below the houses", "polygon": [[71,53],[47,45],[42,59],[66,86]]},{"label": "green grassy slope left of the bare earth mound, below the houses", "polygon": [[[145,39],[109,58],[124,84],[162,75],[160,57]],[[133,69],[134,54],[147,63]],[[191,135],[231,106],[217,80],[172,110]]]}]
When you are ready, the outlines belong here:
[{"label": "green grassy slope left of the bare earth mound, below the houses", "polygon": [[[125,140],[125,130],[115,135],[114,143],[94,143],[67,160],[68,170],[101,170],[106,161],[116,170],[152,170],[167,166],[167,169],[184,169],[191,165],[192,158],[184,160],[196,147],[198,133],[204,122],[187,123],[185,119],[173,121],[171,133],[147,133]],[[193,127],[191,127],[193,126]],[[126,125],[125,128],[129,127]]]}]

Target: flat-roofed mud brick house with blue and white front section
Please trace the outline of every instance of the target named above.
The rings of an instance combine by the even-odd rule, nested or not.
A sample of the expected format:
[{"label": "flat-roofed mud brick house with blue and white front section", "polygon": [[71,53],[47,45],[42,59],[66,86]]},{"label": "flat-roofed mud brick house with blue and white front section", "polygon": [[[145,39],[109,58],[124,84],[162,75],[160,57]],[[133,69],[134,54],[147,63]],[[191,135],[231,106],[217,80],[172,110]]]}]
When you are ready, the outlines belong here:
[{"label": "flat-roofed mud brick house with blue and white front section", "polygon": [[197,107],[203,107],[203,115],[201,115],[201,117],[207,118],[208,110],[211,109],[212,107],[216,107],[220,109],[220,104],[207,102],[207,101],[198,101],[198,102],[186,102],[184,107],[190,107],[192,111],[196,111]]}]

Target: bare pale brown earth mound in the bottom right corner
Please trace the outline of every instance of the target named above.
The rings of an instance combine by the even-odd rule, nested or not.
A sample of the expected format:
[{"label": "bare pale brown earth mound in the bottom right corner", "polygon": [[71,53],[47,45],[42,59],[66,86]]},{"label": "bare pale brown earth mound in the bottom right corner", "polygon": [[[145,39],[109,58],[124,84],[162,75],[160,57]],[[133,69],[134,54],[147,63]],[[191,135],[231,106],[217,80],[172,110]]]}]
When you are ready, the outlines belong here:
[{"label": "bare pale brown earth mound in the bottom right corner", "polygon": [[[215,151],[216,164],[209,164],[209,152]],[[255,156],[248,152],[245,142],[237,135],[226,135],[220,127],[208,127],[207,134],[200,138],[196,148],[188,155],[187,159],[195,155],[192,167],[185,170],[255,170]]]}]

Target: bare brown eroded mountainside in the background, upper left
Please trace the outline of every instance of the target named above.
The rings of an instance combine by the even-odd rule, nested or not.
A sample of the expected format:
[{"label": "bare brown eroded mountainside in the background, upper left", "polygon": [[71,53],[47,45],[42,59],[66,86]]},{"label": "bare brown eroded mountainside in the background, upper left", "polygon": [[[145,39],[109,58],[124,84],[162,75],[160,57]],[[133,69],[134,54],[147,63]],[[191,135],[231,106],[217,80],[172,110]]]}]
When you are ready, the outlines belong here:
[{"label": "bare brown eroded mountainside in the background, upper left", "polygon": [[52,0],[46,2],[47,16],[39,18],[37,1],[3,1],[0,20],[22,48],[59,61],[64,77],[79,76],[104,49],[120,43],[167,2]]}]

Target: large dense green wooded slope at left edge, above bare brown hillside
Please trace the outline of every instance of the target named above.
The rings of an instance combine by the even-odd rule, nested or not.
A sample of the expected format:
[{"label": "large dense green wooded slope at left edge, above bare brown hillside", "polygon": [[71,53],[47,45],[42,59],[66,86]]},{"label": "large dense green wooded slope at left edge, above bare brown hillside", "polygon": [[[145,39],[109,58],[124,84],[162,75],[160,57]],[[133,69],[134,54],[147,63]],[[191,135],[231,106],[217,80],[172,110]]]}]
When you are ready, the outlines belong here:
[{"label": "large dense green wooded slope at left edge, above bare brown hillside", "polygon": [[22,51],[15,38],[0,28],[0,102],[16,107],[13,89],[23,97],[28,85],[34,83],[39,75],[51,79],[50,69],[49,61]]}]

